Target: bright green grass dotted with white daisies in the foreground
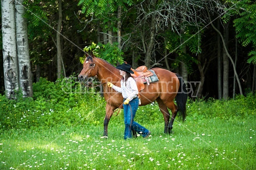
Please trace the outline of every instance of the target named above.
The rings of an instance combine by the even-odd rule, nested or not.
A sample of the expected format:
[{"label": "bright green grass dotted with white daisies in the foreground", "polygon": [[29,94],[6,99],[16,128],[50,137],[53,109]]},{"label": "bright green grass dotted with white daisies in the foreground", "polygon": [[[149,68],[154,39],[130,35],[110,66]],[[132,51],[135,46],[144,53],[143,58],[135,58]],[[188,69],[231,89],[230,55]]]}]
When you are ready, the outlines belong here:
[{"label": "bright green grass dotted with white daisies in the foreground", "polygon": [[[140,122],[140,120],[136,120]],[[103,122],[103,121],[102,121]],[[103,126],[8,130],[0,135],[0,170],[255,170],[255,114],[188,116],[163,134],[163,122],[143,124],[151,136],[123,140],[122,113]]]}]

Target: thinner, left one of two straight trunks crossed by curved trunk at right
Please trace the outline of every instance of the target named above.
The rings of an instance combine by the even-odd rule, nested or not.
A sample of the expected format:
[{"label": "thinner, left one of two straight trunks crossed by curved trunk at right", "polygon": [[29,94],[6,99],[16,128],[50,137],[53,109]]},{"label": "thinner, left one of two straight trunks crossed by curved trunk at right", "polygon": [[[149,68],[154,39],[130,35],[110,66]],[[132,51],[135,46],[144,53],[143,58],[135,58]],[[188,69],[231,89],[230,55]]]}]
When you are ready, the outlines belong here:
[{"label": "thinner, left one of two straight trunks crossed by curved trunk at right", "polygon": [[[218,20],[218,30],[220,30],[220,21]],[[222,60],[221,60],[221,39],[220,39],[220,35],[217,35],[217,60],[218,60],[218,77],[217,77],[217,81],[218,81],[218,99],[221,100],[222,99],[222,72],[221,72],[221,68],[222,68]]]}]

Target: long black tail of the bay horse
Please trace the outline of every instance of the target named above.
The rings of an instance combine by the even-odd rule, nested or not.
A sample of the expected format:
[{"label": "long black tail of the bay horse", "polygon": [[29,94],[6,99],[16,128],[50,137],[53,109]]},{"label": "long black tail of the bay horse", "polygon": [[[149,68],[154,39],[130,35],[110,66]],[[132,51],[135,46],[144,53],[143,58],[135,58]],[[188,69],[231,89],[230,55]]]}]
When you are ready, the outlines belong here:
[{"label": "long black tail of the bay horse", "polygon": [[183,82],[183,78],[176,74],[179,81],[180,81],[180,86],[178,93],[176,95],[176,103],[178,107],[178,112],[179,112],[179,118],[182,118],[182,121],[185,121],[186,119],[186,101],[188,98],[188,93],[186,90],[186,84]]}]

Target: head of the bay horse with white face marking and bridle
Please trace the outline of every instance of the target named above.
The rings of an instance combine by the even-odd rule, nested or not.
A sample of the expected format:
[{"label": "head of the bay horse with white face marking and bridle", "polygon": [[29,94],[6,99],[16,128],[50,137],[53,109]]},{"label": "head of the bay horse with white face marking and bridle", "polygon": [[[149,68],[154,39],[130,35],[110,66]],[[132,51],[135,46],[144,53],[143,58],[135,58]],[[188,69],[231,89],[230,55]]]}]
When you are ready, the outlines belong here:
[{"label": "head of the bay horse with white face marking and bridle", "polygon": [[95,69],[96,58],[88,55],[84,60],[83,69],[78,75],[79,81],[84,81],[88,77],[96,76],[97,70]]}]

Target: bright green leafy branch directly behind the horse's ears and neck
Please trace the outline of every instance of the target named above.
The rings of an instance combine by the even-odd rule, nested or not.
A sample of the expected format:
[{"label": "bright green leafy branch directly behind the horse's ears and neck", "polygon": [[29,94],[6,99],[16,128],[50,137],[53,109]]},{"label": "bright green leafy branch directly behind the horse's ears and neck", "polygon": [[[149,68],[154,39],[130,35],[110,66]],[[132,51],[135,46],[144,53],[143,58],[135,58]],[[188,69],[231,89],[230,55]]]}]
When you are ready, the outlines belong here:
[{"label": "bright green leafy branch directly behind the horse's ears and neck", "polygon": [[[114,66],[116,66],[118,63],[123,63],[124,61],[122,57],[124,53],[118,48],[118,43],[92,43],[92,45],[84,47],[84,51],[91,51],[96,57],[102,58]],[[84,62],[81,59],[80,61]]]}]

